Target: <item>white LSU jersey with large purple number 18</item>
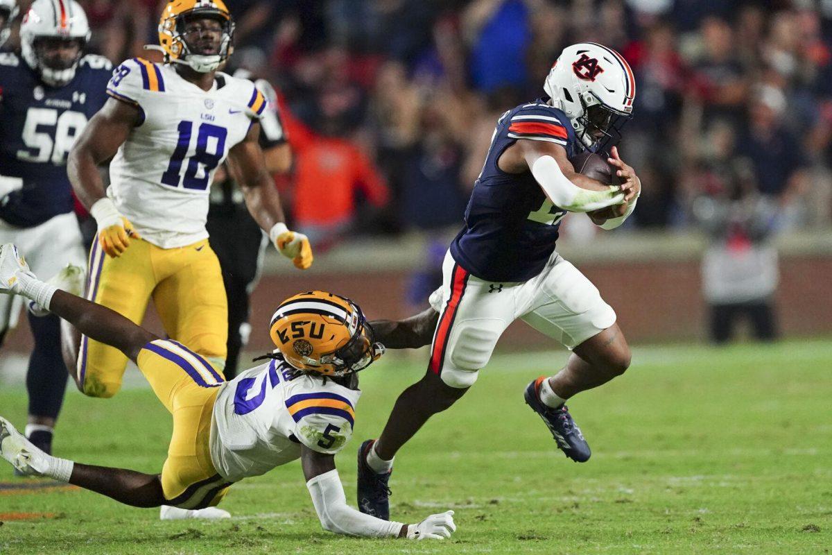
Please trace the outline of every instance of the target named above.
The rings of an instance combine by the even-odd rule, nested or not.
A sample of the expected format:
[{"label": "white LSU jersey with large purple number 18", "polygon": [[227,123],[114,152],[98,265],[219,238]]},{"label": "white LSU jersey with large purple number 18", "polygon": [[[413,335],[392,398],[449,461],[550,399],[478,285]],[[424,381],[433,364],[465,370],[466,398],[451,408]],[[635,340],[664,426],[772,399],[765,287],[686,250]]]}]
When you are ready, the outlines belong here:
[{"label": "white LSU jersey with large purple number 18", "polygon": [[154,245],[205,239],[216,168],[263,115],[266,98],[254,83],[221,72],[203,91],[173,66],[142,58],[117,67],[107,93],[141,111],[110,164],[107,196]]}]

